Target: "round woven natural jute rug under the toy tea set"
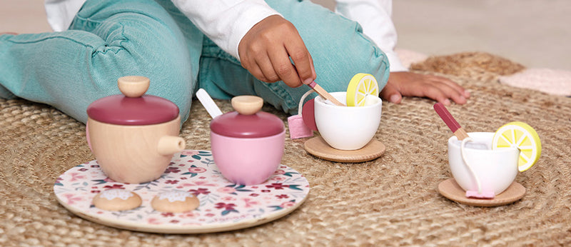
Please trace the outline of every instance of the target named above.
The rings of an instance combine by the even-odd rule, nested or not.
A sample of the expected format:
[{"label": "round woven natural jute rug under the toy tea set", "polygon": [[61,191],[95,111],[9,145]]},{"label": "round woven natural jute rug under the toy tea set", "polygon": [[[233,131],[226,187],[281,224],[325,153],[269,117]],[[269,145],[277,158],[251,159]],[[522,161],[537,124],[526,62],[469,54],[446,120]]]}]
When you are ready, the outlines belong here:
[{"label": "round woven natural jute rug under the toy tea set", "polygon": [[[426,64],[422,64],[426,63]],[[446,69],[434,71],[435,64]],[[492,67],[490,67],[492,66]],[[288,216],[222,233],[166,235],[103,226],[75,216],[53,193],[56,178],[94,160],[85,126],[50,106],[0,100],[0,246],[567,246],[571,244],[571,99],[502,85],[522,69],[490,54],[436,56],[413,65],[447,76],[472,92],[448,110],[467,131],[495,131],[524,121],[542,139],[538,163],[517,175],[525,196],[481,208],[441,196],[451,177],[450,130],[434,101],[383,103],[376,138],[386,151],[364,163],[311,156],[306,139],[286,139],[283,164],[308,179],[308,199]],[[517,69],[520,68],[520,69]],[[217,101],[224,112],[228,101]],[[265,106],[265,111],[287,115]],[[181,131],[188,149],[209,150],[210,116],[198,101]]]}]

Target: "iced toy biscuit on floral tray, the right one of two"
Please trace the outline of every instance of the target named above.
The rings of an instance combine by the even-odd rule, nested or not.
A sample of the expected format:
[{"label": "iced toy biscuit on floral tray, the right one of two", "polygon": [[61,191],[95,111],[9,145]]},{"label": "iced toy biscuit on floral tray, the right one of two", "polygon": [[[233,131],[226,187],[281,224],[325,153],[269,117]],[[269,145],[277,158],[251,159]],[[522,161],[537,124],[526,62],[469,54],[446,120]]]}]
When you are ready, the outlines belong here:
[{"label": "iced toy biscuit on floral tray, the right one of two", "polygon": [[200,202],[192,193],[186,191],[166,191],[156,195],[151,206],[156,211],[181,213],[198,208]]}]

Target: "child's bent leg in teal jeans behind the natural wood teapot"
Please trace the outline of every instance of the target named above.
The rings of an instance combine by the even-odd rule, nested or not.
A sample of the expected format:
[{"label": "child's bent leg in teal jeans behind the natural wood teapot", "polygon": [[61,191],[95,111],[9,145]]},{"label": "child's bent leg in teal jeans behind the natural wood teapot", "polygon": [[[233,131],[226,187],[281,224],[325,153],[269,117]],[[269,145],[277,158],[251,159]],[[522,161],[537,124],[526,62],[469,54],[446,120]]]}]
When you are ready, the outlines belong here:
[{"label": "child's bent leg in teal jeans behind the natural wood teapot", "polygon": [[119,77],[139,75],[151,79],[148,94],[175,102],[186,119],[202,42],[196,31],[191,51],[190,33],[155,1],[87,1],[68,31],[0,36],[0,96],[50,104],[85,122],[91,102],[120,94]]}]

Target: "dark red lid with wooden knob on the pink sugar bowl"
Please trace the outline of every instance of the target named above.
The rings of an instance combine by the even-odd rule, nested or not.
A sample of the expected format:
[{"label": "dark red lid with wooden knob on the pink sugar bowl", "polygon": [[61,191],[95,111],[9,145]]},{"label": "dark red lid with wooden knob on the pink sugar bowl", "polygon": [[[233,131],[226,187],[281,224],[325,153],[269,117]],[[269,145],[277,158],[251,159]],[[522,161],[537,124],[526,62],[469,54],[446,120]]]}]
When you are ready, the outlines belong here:
[{"label": "dark red lid with wooden knob on the pink sugar bowl", "polygon": [[260,111],[263,99],[258,96],[236,96],[232,98],[231,111],[211,121],[213,133],[237,138],[259,138],[273,136],[285,130],[283,121],[273,114]]}]

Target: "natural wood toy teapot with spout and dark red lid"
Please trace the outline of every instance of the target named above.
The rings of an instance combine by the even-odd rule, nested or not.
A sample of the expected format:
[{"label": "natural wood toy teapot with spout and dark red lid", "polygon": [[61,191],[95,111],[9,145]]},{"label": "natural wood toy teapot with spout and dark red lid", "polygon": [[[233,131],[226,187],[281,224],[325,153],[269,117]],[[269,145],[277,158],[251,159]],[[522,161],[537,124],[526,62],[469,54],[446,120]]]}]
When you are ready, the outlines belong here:
[{"label": "natural wood toy teapot with spout and dark red lid", "polygon": [[143,76],[118,79],[123,95],[89,105],[87,140],[103,172],[120,183],[145,183],[159,178],[174,153],[186,143],[178,136],[178,106],[158,96],[143,95]]}]

